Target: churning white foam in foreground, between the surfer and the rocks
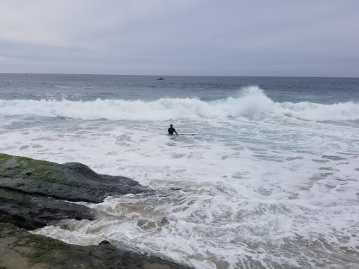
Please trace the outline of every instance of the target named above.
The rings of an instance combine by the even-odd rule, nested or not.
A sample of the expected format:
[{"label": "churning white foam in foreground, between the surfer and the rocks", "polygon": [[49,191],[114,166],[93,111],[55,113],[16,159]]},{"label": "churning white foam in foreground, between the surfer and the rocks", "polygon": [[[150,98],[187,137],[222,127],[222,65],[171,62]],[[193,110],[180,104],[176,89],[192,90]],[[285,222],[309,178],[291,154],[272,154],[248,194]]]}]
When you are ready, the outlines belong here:
[{"label": "churning white foam in foreground, between the surfer and the rocks", "polygon": [[[21,142],[19,148],[27,143],[22,155],[59,163],[80,161],[96,172],[132,177],[160,193],[108,198],[90,205],[104,212],[96,221],[64,221],[36,233],[73,244],[109,240],[201,269],[241,268],[248,263],[245,256],[267,268],[276,268],[273,263],[315,268],[318,262],[310,261],[336,261],[320,256],[330,244],[355,250],[358,241],[351,235],[359,233],[358,188],[357,181],[346,179],[355,179],[357,155],[335,153],[330,140],[323,144],[325,139],[318,139],[329,147],[323,151],[316,139],[287,138],[288,143],[301,143],[301,149],[309,143],[311,151],[295,152],[276,149],[274,144],[243,145],[236,139],[213,143],[204,132],[201,138],[174,139],[137,130],[135,125],[111,126],[104,132],[103,124],[94,128],[94,123],[86,123],[73,133],[30,130],[27,135],[0,138],[4,144]],[[335,134],[334,127],[326,131],[329,137]],[[285,126],[281,128],[276,136],[285,135]],[[261,135],[257,139],[260,142]],[[34,148],[35,143],[43,148]],[[341,143],[344,150],[345,141]],[[358,146],[353,150],[358,152]],[[323,247],[316,253],[318,243]]]}]

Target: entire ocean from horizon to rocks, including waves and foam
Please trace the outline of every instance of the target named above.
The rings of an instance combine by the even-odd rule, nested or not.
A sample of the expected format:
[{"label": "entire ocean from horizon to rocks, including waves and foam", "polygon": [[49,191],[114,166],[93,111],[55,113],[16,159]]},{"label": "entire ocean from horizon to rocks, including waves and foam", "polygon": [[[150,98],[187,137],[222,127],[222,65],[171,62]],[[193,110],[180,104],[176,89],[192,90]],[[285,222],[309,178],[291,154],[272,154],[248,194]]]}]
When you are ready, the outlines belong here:
[{"label": "entire ocean from horizon to rocks, including waves and foam", "polygon": [[0,74],[1,153],[156,190],[34,233],[196,269],[359,268],[359,78],[164,78]]}]

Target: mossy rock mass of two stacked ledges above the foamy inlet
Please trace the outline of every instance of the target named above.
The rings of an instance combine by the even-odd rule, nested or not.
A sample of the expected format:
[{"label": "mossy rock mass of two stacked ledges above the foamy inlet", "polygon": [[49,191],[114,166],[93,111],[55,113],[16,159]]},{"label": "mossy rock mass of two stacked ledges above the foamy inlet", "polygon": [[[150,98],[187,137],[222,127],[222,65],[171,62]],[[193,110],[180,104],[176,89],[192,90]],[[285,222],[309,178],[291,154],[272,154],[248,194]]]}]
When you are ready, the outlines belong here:
[{"label": "mossy rock mass of two stacked ledges above the foamy inlet", "polygon": [[33,230],[61,219],[93,219],[69,201],[102,202],[109,195],[151,192],[128,177],[97,174],[81,163],[60,165],[0,154],[0,221]]}]

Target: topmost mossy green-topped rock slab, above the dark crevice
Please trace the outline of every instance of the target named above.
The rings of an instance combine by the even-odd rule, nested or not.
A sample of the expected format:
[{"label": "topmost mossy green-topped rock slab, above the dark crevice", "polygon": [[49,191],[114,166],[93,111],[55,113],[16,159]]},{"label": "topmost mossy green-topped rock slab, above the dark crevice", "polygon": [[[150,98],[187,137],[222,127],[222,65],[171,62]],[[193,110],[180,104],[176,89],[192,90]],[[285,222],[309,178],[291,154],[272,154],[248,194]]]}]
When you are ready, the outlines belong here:
[{"label": "topmost mossy green-topped rock slab, above the dark crevice", "polygon": [[151,192],[133,179],[97,174],[81,163],[60,165],[6,154],[0,154],[0,188],[74,202]]}]

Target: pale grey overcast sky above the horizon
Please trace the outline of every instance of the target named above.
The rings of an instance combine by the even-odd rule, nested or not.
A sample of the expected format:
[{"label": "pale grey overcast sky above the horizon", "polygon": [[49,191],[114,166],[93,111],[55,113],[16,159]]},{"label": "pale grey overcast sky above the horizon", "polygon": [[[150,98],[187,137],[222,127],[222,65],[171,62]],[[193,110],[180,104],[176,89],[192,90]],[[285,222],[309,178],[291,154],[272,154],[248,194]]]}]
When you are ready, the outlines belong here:
[{"label": "pale grey overcast sky above the horizon", "polygon": [[359,1],[0,0],[0,72],[359,77]]}]

